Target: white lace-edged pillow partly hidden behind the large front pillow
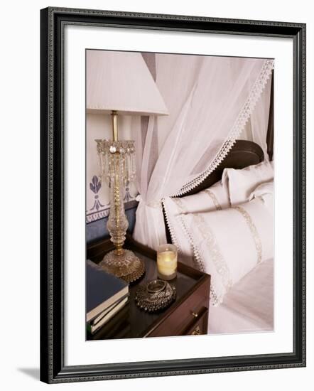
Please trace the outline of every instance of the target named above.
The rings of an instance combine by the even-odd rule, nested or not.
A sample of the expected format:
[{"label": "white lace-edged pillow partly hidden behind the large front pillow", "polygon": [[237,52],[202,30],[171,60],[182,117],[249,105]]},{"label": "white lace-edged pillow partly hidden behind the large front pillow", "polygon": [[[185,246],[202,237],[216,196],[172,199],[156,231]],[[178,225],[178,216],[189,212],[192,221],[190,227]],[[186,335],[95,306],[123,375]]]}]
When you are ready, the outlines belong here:
[{"label": "white lace-edged pillow partly hidden behind the large front pillow", "polygon": [[207,212],[229,208],[229,206],[228,188],[221,181],[197,194],[187,195],[182,198],[166,197],[163,199],[166,223],[170,231],[171,240],[178,247],[180,262],[195,267],[193,248],[185,237],[183,228],[178,223],[176,217],[181,213]]}]

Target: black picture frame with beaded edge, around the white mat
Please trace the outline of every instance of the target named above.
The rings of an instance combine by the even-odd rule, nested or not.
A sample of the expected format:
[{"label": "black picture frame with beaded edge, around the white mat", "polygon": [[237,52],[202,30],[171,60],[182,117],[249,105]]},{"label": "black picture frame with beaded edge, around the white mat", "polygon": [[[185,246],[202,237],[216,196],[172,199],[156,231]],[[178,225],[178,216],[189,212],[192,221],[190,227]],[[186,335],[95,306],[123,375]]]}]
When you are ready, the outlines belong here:
[{"label": "black picture frame with beaded edge, around the white mat", "polygon": [[[293,39],[293,353],[65,366],[63,30],[67,24]],[[305,366],[305,24],[42,9],[40,181],[40,380],[80,382]]]}]

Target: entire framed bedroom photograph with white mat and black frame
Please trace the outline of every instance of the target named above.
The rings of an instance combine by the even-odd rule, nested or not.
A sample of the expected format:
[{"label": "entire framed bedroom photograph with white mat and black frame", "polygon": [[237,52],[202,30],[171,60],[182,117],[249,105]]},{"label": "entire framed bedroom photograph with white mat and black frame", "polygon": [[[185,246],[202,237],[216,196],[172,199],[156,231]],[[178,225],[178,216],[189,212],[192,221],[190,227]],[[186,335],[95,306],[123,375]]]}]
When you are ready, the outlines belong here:
[{"label": "entire framed bedroom photograph with white mat and black frame", "polygon": [[40,380],[305,366],[305,24],[40,12]]}]

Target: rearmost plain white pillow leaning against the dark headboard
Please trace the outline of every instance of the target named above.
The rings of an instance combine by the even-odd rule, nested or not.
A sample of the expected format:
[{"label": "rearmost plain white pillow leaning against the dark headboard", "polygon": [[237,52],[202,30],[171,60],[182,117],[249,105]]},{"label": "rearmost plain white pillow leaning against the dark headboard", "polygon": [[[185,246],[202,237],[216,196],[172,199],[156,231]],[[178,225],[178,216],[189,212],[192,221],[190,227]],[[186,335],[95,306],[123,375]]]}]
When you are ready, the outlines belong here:
[{"label": "rearmost plain white pillow leaning against the dark headboard", "polygon": [[222,182],[229,188],[230,203],[232,206],[246,203],[249,195],[261,183],[269,182],[274,178],[274,168],[269,161],[248,166],[237,170],[224,168]]}]

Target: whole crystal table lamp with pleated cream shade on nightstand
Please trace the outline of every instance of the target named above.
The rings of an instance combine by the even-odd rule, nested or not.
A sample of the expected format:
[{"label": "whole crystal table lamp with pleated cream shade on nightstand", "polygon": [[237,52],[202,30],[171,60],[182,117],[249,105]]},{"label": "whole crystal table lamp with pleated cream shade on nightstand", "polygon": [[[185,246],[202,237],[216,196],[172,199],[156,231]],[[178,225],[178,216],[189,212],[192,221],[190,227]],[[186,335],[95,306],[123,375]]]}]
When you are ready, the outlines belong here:
[{"label": "whole crystal table lamp with pleated cream shade on nightstand", "polygon": [[107,228],[115,246],[99,264],[126,282],[134,282],[144,274],[145,264],[123,248],[129,227],[123,191],[126,181],[136,175],[135,147],[133,140],[119,140],[118,117],[168,114],[141,53],[87,50],[87,113],[112,115],[112,140],[95,140],[102,181],[109,183]]}]

